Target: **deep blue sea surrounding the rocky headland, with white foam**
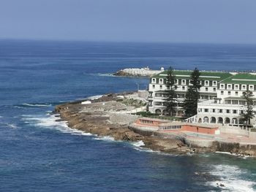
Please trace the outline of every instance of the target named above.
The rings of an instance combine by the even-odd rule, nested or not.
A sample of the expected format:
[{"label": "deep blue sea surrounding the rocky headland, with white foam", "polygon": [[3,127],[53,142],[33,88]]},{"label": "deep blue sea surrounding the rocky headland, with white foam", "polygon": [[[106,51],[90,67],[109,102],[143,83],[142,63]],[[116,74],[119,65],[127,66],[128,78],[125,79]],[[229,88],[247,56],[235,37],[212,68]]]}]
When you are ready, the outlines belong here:
[{"label": "deep blue sea surrounding the rocky headland, with white foam", "polygon": [[[56,104],[146,88],[127,67],[255,70],[256,45],[0,41],[0,191],[256,191],[256,160],[166,155],[74,131]],[[224,188],[217,187],[223,183]]]}]

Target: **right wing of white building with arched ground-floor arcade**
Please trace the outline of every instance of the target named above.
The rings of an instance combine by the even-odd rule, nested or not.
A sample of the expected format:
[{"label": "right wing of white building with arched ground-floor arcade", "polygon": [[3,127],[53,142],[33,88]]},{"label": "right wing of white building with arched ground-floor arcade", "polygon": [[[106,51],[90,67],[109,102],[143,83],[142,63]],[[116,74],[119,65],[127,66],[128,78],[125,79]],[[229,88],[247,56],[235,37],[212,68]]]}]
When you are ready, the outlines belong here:
[{"label": "right wing of white building with arched ground-floor arcade", "polygon": [[[197,104],[197,122],[223,123],[238,126],[243,124],[241,114],[244,113],[246,101],[241,98],[243,92],[253,93],[256,105],[256,75],[239,73],[219,82],[217,98],[201,101]],[[254,108],[256,110],[256,107]],[[255,124],[255,118],[251,124]]]}]

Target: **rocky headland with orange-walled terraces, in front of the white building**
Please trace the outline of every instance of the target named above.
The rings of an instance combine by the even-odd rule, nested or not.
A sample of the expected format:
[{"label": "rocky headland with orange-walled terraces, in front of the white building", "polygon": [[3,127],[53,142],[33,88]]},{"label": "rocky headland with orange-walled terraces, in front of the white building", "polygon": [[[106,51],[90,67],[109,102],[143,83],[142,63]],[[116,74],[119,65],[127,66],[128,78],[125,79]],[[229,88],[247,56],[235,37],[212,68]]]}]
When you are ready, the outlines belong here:
[{"label": "rocky headland with orange-walled terraces, in front of the white building", "polygon": [[[116,140],[141,141],[141,147],[162,153],[221,151],[236,155],[256,155],[256,141],[240,132],[227,134],[225,128],[217,126],[188,125],[181,121],[148,119],[136,115],[145,110],[146,102],[138,93],[113,93],[98,99],[60,104],[56,106],[55,112],[60,115],[61,120],[67,121],[70,128]],[[154,125],[147,120],[154,122]],[[148,126],[148,122],[151,125]],[[165,130],[167,126],[173,126],[174,130]],[[194,127],[194,131],[193,128],[188,130],[187,126]],[[198,128],[206,131],[198,132]]]}]

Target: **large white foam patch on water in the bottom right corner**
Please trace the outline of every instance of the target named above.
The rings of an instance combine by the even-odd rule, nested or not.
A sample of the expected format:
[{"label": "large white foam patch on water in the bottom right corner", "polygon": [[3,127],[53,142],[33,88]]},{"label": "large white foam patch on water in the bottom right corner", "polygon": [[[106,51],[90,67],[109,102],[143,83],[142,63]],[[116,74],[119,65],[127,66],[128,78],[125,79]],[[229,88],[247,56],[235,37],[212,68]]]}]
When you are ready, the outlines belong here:
[{"label": "large white foam patch on water in the bottom right corner", "polygon": [[213,169],[210,173],[219,177],[219,180],[208,182],[206,185],[213,185],[214,187],[217,187],[218,185],[222,184],[224,187],[219,188],[222,188],[223,191],[255,191],[253,189],[253,185],[256,185],[256,182],[251,180],[244,180],[242,177],[243,174],[246,174],[246,171],[239,169],[238,166],[223,164],[215,165],[213,166]]}]

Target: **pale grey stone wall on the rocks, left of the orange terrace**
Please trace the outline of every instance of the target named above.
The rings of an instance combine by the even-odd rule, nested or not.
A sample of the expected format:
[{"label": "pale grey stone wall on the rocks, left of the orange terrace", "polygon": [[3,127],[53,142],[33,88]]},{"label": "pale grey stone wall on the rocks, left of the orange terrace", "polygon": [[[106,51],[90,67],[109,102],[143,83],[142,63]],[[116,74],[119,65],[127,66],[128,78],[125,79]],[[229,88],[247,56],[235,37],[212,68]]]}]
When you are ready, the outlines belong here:
[{"label": "pale grey stone wall on the rocks, left of the orange terrace", "polygon": [[129,115],[122,113],[111,113],[110,121],[113,123],[118,123],[121,125],[129,125],[129,123],[134,123],[138,119],[137,115]]}]

